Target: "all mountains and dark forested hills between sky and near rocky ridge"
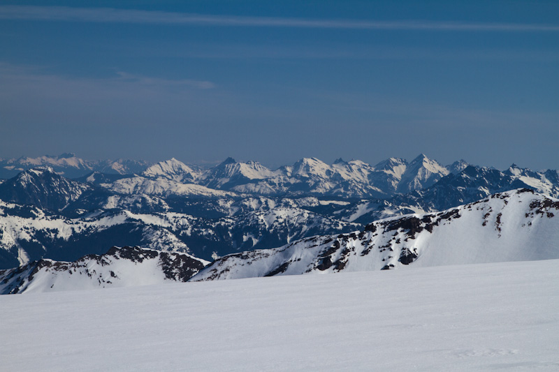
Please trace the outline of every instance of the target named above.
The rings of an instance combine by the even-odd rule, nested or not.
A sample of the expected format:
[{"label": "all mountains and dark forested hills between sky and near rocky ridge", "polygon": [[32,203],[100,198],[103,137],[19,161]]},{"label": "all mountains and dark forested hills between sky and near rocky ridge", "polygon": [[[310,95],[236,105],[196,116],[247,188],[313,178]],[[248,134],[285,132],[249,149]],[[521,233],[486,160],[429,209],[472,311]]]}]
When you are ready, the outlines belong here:
[{"label": "all mountains and dark forested hills between sky and near rocky ridge", "polygon": [[[80,168],[73,179],[64,176],[68,167],[85,161],[68,154],[38,159],[26,164],[58,162],[59,168],[30,168],[0,184],[0,269],[43,258],[78,260],[111,246],[215,260],[518,188],[559,196],[557,170],[513,164],[500,171],[465,161],[442,166],[423,154],[409,163],[390,158],[375,166],[303,158],[277,170],[233,158],[203,169],[173,158],[149,166],[137,162],[138,172],[131,174]],[[94,163],[103,162],[87,164]]]}]

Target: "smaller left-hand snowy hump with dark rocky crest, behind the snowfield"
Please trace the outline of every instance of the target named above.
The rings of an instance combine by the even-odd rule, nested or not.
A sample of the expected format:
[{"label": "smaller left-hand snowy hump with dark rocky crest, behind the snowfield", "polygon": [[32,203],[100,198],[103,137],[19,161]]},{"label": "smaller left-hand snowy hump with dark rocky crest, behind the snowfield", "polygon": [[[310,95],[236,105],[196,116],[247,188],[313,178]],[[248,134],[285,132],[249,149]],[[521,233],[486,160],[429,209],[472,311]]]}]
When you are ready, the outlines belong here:
[{"label": "smaller left-hand snowy hump with dark rocky crest, behind the snowfield", "polygon": [[0,295],[184,282],[208,263],[186,253],[112,247],[74,262],[38,260],[0,270]]}]

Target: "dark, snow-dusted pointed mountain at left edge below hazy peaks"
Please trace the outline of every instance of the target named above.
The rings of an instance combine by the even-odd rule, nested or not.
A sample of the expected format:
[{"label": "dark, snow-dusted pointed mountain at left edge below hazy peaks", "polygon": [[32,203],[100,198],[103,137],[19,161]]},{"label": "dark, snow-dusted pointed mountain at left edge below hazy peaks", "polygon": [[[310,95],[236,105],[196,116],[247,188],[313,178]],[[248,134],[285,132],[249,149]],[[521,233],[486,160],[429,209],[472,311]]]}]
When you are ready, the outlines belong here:
[{"label": "dark, snow-dusted pointed mountain at left edge below hazy peaks", "polygon": [[0,184],[0,200],[60,211],[91,188],[59,176],[50,167],[34,168]]}]

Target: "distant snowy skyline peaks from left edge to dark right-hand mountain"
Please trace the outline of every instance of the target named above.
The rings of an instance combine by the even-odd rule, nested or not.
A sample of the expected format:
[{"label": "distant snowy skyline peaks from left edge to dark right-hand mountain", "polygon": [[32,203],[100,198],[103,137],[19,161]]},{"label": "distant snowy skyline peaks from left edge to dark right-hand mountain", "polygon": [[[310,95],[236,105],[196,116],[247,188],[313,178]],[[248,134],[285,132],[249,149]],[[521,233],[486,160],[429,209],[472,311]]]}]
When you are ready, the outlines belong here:
[{"label": "distant snowy skyline peaks from left edge to dark right-hand mountain", "polygon": [[[396,160],[398,164],[394,164],[393,169],[387,169],[386,166],[391,164],[392,160]],[[224,191],[259,195],[312,193],[360,198],[393,195],[398,187],[400,192],[429,186],[449,172],[423,154],[409,163],[412,168],[408,167],[407,172],[405,169],[408,163],[402,159],[391,158],[381,163],[384,164],[384,168],[377,169],[363,161],[345,162],[338,159],[332,165],[328,165],[317,158],[302,158],[291,166],[270,170],[256,161],[237,162],[233,158],[227,158],[213,168],[201,170],[185,165],[175,158],[150,166],[145,161],[85,161],[74,154],[62,154],[58,157],[0,159],[0,178],[13,177],[18,172],[37,166],[50,166],[64,177],[92,176],[94,178],[91,181],[103,184],[107,182],[99,181],[101,177],[94,173],[140,174],[147,179],[168,179],[182,184],[194,183]],[[420,166],[419,170],[414,170],[416,163],[434,166]],[[434,175],[431,174],[433,170],[436,173]]]}]

